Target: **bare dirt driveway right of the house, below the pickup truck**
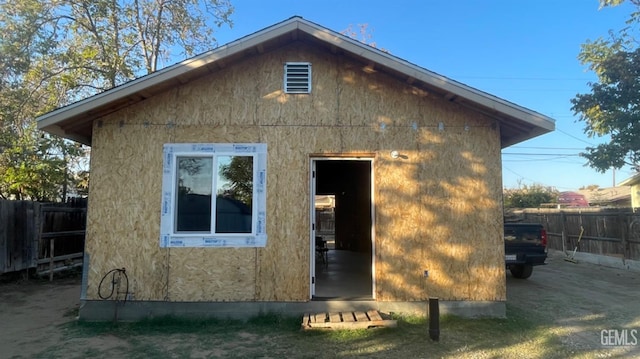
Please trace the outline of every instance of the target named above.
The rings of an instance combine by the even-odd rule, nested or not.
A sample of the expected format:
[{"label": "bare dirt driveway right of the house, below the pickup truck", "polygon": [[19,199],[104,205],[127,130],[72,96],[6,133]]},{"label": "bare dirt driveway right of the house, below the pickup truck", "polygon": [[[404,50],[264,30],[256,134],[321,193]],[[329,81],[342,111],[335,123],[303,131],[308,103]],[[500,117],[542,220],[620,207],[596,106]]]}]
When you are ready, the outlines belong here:
[{"label": "bare dirt driveway right of the house, below the pickup truck", "polygon": [[[639,358],[640,272],[564,258],[560,251],[549,253],[547,265],[535,267],[526,280],[507,274],[508,305],[555,323],[555,334],[570,348]],[[633,344],[632,330],[635,345],[611,345],[616,335],[618,340],[627,335],[627,344]]]}]

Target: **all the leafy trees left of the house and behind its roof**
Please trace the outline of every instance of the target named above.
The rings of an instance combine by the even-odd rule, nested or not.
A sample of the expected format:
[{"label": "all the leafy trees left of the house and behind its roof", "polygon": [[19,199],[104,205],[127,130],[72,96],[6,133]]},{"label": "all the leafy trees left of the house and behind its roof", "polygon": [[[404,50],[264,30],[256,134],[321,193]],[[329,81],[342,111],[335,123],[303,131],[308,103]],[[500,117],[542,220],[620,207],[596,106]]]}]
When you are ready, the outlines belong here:
[{"label": "all the leafy trees left of the house and behind its roof", "polygon": [[34,119],[209,49],[232,12],[229,0],[0,0],[0,198],[86,190],[86,149]]}]

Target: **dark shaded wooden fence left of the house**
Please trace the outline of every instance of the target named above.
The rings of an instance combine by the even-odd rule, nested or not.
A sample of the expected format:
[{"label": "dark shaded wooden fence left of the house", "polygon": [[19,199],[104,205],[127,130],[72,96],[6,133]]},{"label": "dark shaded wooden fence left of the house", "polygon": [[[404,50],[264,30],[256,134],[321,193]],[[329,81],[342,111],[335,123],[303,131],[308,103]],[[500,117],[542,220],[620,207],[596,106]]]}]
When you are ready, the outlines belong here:
[{"label": "dark shaded wooden fence left of the house", "polygon": [[81,265],[86,201],[0,201],[0,274]]}]

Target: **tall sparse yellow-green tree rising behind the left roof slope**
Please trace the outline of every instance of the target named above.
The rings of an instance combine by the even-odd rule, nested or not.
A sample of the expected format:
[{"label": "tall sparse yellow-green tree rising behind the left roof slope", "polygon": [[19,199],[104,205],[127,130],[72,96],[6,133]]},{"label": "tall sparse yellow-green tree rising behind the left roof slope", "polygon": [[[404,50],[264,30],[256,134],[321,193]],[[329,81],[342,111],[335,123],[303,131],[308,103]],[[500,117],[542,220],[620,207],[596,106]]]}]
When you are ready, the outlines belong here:
[{"label": "tall sparse yellow-green tree rising behind the left roof slope", "polygon": [[87,95],[156,71],[172,49],[210,49],[212,25],[231,25],[232,12],[229,0],[13,0],[0,2],[0,24],[43,75]]}]

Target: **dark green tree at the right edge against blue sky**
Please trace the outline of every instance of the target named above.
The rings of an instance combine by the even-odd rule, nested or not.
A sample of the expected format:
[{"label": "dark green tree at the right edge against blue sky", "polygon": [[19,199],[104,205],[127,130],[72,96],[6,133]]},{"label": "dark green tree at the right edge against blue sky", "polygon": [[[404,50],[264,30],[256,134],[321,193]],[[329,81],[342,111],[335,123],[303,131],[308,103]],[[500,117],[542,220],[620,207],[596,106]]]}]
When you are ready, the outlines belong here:
[{"label": "dark green tree at the right edge against blue sky", "polygon": [[[601,0],[614,6],[620,0]],[[621,31],[582,45],[579,60],[598,76],[591,92],[571,100],[572,110],[585,123],[589,137],[609,136],[608,142],[587,147],[581,155],[600,172],[640,162],[640,0]]]}]

